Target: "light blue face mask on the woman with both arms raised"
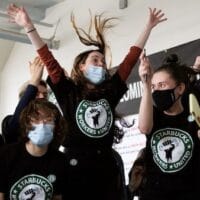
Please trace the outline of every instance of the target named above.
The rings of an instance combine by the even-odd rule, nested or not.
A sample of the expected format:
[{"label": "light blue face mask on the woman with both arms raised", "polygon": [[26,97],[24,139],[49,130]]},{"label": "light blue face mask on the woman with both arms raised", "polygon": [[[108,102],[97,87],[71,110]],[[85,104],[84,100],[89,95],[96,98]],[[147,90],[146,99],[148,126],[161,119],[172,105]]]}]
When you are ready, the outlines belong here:
[{"label": "light blue face mask on the woman with both arms raised", "polygon": [[91,83],[98,85],[105,80],[106,70],[103,67],[89,65],[84,72],[84,76]]}]

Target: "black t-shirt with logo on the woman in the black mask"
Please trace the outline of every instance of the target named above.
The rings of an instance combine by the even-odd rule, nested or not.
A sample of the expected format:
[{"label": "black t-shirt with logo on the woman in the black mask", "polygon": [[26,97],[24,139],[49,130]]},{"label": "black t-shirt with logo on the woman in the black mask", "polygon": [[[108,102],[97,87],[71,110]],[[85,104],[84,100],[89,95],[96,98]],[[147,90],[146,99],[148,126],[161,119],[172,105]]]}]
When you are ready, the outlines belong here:
[{"label": "black t-shirt with logo on the woman in the black mask", "polygon": [[191,200],[197,195],[200,141],[197,125],[187,118],[186,112],[169,116],[154,109],[147,136],[145,200]]}]

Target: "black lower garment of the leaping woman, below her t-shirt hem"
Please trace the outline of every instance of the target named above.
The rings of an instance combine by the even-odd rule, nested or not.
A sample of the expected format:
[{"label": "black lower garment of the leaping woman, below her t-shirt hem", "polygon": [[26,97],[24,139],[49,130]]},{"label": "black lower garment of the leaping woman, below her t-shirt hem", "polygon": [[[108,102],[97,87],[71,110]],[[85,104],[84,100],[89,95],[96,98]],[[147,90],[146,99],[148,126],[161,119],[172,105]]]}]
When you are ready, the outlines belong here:
[{"label": "black lower garment of the leaping woman, below her t-shirt hem", "polygon": [[68,149],[65,199],[122,199],[121,172],[112,150]]}]

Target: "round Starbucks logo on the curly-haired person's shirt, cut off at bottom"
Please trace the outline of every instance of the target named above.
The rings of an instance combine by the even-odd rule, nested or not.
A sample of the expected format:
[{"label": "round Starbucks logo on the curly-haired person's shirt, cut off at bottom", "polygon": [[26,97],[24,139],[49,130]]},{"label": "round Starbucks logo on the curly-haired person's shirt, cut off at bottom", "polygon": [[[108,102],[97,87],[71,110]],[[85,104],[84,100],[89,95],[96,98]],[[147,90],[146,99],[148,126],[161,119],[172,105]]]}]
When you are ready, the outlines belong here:
[{"label": "round Starbucks logo on the curly-haired person's shirt, cut off at bottom", "polygon": [[18,180],[10,190],[10,199],[51,200],[53,186],[48,179],[35,174]]}]

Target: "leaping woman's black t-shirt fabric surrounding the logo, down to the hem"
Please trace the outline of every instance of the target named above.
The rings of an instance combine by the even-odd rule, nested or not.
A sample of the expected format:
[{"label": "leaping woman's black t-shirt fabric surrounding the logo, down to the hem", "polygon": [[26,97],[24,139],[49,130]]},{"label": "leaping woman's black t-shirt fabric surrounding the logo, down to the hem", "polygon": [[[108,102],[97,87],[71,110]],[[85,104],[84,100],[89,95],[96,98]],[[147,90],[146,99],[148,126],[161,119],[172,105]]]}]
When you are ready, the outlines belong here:
[{"label": "leaping woman's black t-shirt fabric surrounding the logo, down to the hem", "polygon": [[98,139],[90,138],[86,137],[80,131],[76,123],[76,112],[77,107],[82,100],[95,102],[100,99],[106,99],[114,116],[115,107],[127,90],[126,84],[120,79],[118,73],[113,75],[108,81],[105,81],[103,84],[101,84],[97,92],[91,91],[87,92],[86,94],[84,93],[85,91],[82,87],[75,85],[70,79],[63,79],[56,85],[52,84],[49,78],[47,82],[54,92],[58,104],[69,125],[69,132],[66,135],[64,146],[100,146],[111,148],[114,137],[114,121],[112,123],[112,127],[110,128],[109,134]]}]

